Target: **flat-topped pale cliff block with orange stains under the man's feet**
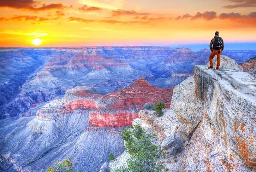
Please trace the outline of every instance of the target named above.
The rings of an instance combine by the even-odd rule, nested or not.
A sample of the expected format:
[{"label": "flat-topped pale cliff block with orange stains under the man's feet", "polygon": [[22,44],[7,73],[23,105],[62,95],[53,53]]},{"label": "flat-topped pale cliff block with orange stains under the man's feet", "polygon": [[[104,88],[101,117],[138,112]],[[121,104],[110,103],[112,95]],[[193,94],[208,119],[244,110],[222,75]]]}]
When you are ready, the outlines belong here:
[{"label": "flat-topped pale cliff block with orange stains under the man's feet", "polygon": [[195,98],[231,155],[256,168],[256,80],[244,72],[194,67]]}]

